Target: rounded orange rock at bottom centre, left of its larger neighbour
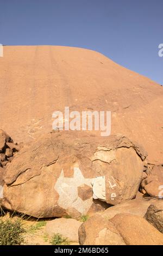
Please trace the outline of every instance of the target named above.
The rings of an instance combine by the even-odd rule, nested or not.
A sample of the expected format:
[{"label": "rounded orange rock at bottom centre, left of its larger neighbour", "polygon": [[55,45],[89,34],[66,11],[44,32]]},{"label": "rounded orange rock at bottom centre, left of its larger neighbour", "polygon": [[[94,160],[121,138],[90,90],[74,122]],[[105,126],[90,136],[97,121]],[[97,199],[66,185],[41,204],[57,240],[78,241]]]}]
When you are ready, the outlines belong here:
[{"label": "rounded orange rock at bottom centre, left of its larger neighbour", "polygon": [[94,215],[79,228],[80,245],[126,245],[114,224]]}]

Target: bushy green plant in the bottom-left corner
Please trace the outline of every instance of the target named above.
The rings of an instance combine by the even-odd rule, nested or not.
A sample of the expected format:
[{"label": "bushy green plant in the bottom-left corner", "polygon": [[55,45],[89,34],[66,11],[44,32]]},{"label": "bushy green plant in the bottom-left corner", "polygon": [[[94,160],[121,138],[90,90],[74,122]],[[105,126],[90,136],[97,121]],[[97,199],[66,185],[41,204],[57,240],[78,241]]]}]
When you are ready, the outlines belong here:
[{"label": "bushy green plant in the bottom-left corner", "polygon": [[0,245],[21,245],[24,242],[22,220],[0,217]]}]

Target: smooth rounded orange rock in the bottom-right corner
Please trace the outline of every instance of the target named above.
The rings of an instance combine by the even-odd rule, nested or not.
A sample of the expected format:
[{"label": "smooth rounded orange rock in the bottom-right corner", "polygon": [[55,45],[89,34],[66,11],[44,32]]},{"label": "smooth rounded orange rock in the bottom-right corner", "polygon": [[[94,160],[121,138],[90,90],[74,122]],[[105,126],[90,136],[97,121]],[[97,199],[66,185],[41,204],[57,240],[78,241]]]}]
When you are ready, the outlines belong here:
[{"label": "smooth rounded orange rock in the bottom-right corner", "polygon": [[163,245],[163,234],[140,216],[117,214],[110,221],[127,245]]}]

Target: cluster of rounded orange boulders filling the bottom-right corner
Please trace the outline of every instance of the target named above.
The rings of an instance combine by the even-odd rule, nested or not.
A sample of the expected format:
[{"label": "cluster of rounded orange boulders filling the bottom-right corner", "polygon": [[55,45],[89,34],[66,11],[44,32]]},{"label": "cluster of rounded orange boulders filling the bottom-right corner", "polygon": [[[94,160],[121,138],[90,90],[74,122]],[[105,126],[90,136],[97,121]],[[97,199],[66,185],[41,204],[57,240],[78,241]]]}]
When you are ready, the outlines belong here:
[{"label": "cluster of rounded orange boulders filling the bottom-right corner", "polygon": [[[100,215],[93,215],[79,227],[80,245],[163,245],[163,234],[160,232],[162,218],[160,221],[159,215],[156,217],[150,210],[153,207],[156,209],[156,206],[149,206],[143,218],[141,211],[136,208],[139,203],[139,200],[136,201],[134,208],[126,207],[126,210],[121,205],[118,208],[113,206],[110,208],[114,211],[111,212],[112,216],[109,209]],[[157,211],[162,212],[162,209],[163,204]]]}]

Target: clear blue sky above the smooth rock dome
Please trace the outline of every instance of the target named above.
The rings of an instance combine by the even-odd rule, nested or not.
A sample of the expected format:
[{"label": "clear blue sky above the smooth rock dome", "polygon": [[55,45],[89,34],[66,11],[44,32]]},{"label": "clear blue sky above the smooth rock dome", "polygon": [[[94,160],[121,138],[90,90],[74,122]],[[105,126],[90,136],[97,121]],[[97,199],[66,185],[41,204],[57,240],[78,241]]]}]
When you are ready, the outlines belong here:
[{"label": "clear blue sky above the smooth rock dome", "polygon": [[0,0],[0,43],[89,48],[163,84],[163,0]]}]

